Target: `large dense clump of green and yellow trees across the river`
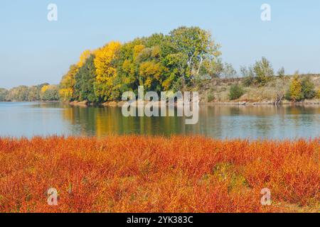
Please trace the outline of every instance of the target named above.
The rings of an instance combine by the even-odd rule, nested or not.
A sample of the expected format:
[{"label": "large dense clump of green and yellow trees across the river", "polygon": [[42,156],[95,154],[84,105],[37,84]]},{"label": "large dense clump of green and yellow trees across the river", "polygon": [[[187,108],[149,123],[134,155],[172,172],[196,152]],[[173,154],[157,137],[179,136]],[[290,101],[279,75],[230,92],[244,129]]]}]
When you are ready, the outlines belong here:
[{"label": "large dense clump of green and yellow trees across the river", "polygon": [[64,101],[104,102],[139,86],[145,92],[186,89],[201,75],[220,70],[220,46],[208,31],[181,27],[168,35],[153,34],[127,43],[112,41],[97,50],[85,50],[60,82]]}]

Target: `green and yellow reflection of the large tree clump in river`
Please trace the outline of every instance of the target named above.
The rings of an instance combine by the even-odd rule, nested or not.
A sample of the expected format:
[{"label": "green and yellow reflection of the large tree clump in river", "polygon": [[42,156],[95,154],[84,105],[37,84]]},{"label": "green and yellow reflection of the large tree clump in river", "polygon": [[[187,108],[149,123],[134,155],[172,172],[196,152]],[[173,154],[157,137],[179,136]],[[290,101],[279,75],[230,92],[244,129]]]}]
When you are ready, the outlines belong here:
[{"label": "green and yellow reflection of the large tree clump in river", "polygon": [[177,117],[124,117],[119,107],[69,106],[63,118],[79,126],[81,134],[97,135],[139,133],[171,135],[185,133],[184,119]]}]

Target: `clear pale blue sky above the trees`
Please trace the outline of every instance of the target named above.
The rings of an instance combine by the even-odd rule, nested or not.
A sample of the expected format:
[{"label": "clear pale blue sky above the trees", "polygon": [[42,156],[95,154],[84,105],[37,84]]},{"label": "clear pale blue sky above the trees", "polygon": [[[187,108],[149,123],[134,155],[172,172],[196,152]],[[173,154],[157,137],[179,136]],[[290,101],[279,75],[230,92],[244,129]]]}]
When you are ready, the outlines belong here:
[{"label": "clear pale blue sky above the trees", "polygon": [[[47,21],[47,6],[58,21]],[[260,6],[272,7],[272,21]],[[82,50],[178,26],[200,26],[238,70],[262,56],[287,72],[320,72],[319,0],[33,0],[0,2],[0,87],[58,84]]]}]

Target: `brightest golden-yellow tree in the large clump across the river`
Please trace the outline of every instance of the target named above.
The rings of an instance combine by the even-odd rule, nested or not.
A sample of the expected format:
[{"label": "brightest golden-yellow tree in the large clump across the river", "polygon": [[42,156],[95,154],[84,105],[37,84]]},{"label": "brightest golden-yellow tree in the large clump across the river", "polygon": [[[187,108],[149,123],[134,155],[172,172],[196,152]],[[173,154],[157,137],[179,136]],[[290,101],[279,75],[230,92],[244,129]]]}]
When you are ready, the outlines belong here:
[{"label": "brightest golden-yellow tree in the large clump across the river", "polygon": [[95,93],[102,101],[107,101],[112,94],[112,85],[116,77],[112,60],[116,57],[120,46],[119,42],[112,41],[95,51]]}]

